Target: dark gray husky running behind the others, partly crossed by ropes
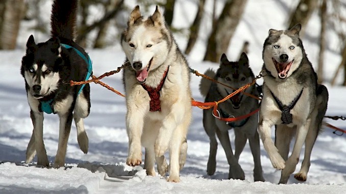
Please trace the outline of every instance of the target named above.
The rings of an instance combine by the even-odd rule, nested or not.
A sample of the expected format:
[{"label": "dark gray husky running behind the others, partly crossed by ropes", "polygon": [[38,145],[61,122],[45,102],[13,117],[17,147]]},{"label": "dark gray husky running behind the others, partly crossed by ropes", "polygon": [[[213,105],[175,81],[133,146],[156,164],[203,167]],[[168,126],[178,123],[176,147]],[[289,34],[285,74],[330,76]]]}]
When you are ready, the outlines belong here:
[{"label": "dark gray husky running behind the others, partly crossed by ropes", "polygon": [[[225,85],[231,86],[233,89],[238,89],[246,84],[249,84],[255,78],[249,66],[248,57],[244,52],[241,54],[238,62],[229,62],[226,55],[223,54],[220,59],[220,66],[216,73],[209,69],[205,72],[205,74],[213,77],[215,80]],[[234,90],[217,84],[216,82],[202,79],[200,91],[203,96],[206,96],[206,102],[213,102],[225,98]],[[246,89],[244,92],[250,93],[254,96],[259,96],[259,92],[254,85]],[[259,104],[257,99],[244,95],[244,93],[238,93],[229,100],[220,103],[217,110],[220,117],[229,118],[249,114],[258,108]],[[216,133],[226,152],[227,161],[230,164],[229,178],[244,180],[244,172],[241,169],[238,160],[246,141],[249,139],[249,144],[255,163],[254,180],[264,181],[260,159],[260,142],[257,132],[258,114],[256,113],[246,119],[228,123],[215,118],[212,115],[212,111],[212,109],[203,110],[203,125],[210,138],[210,153],[207,165],[208,175],[213,175],[216,168]],[[232,128],[234,129],[235,133],[234,154],[228,134],[228,130]]]}]

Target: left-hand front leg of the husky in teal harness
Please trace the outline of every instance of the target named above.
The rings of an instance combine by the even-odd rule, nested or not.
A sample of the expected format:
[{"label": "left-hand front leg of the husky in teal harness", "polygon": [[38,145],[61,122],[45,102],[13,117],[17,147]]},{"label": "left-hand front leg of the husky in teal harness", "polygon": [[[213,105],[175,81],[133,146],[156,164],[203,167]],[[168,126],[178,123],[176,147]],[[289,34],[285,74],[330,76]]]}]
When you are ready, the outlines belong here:
[{"label": "left-hand front leg of the husky in teal harness", "polygon": [[[33,112],[31,110],[30,117],[34,125],[34,138],[35,141],[35,149],[37,152],[37,165],[40,167],[48,167],[49,161],[47,158],[47,153],[44,148],[43,143],[43,113],[40,112]],[[30,148],[30,142],[28,145],[28,148]],[[27,160],[30,158],[30,155],[27,155]]]}]

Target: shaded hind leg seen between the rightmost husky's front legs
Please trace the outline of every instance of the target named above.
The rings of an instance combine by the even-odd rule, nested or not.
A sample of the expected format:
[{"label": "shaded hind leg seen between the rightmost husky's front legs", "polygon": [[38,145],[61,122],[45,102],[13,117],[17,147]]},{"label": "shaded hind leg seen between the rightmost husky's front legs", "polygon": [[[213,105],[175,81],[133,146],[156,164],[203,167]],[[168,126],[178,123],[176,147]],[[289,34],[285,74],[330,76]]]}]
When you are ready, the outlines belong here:
[{"label": "shaded hind leg seen between the rightmost husky's front legs", "polygon": [[286,161],[289,153],[289,144],[295,134],[295,127],[287,125],[276,125],[275,127],[275,146],[278,148],[281,157]]}]

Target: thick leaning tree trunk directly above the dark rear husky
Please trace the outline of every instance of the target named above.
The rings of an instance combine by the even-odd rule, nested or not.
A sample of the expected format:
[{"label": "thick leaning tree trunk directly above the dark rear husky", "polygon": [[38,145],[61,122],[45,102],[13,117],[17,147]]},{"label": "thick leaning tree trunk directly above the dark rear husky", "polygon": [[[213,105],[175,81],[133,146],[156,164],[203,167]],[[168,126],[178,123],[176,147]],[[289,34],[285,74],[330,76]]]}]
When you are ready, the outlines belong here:
[{"label": "thick leaning tree trunk directly above the dark rear husky", "polygon": [[230,41],[243,14],[246,0],[227,1],[209,39],[204,61],[218,62],[227,52]]}]

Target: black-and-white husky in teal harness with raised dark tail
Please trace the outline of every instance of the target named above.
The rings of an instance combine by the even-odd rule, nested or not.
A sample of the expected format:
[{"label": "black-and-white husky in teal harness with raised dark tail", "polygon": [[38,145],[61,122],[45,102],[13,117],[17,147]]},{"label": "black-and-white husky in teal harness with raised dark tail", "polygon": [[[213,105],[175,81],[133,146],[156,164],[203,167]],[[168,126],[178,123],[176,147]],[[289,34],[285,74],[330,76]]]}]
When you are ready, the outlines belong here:
[{"label": "black-and-white husky in teal harness with raised dark tail", "polygon": [[46,42],[36,44],[33,35],[27,42],[22,58],[21,75],[25,79],[30,117],[34,129],[27,148],[26,162],[37,153],[37,165],[48,167],[43,143],[43,112],[58,114],[59,144],[54,168],[65,164],[65,154],[72,118],[75,120],[78,144],[88,152],[88,136],[83,118],[90,112],[90,87],[69,85],[70,80],[82,81],[92,73],[88,54],[75,39],[78,1],[55,0],[51,15],[51,36]]}]

